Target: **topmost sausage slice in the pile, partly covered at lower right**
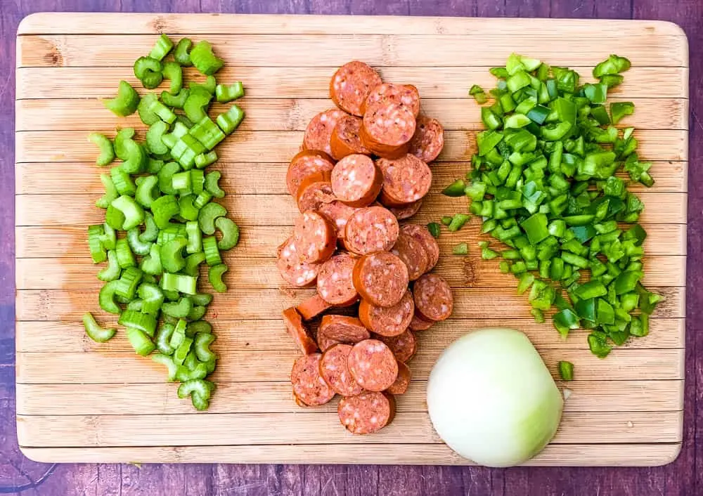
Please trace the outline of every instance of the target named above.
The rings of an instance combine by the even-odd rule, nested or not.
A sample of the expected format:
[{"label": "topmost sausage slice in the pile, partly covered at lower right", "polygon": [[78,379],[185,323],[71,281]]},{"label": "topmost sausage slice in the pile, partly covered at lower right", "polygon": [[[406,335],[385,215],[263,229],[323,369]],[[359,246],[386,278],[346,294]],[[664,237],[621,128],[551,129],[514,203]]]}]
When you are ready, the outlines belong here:
[{"label": "topmost sausage slice in the pile, partly covered at lower right", "polygon": [[369,91],[381,84],[373,68],[359,60],[348,62],[330,80],[330,98],[337,107],[352,115],[361,115],[361,104]]}]

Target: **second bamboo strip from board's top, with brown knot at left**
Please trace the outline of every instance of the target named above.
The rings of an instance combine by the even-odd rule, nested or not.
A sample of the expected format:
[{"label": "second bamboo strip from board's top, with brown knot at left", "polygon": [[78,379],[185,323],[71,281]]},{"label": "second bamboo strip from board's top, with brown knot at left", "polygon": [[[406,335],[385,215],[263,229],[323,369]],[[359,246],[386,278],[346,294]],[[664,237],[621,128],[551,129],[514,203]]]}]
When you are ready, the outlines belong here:
[{"label": "second bamboo strip from board's top, with brown knot at left", "polygon": [[[340,20],[341,22],[344,22]],[[252,22],[254,22],[252,20]],[[321,23],[330,22],[320,19]],[[495,25],[496,29],[499,28]],[[525,26],[527,27],[527,25]],[[602,33],[599,33],[602,34]],[[190,37],[191,33],[183,33]],[[145,47],[153,45],[153,34],[81,34],[73,36],[28,34],[17,39],[18,67],[133,67]],[[208,34],[207,40],[220,53],[236,50],[239,65],[250,67],[339,67],[358,58],[370,65],[404,67],[442,67],[456,65],[471,53],[471,65],[490,66],[496,57],[503,60],[515,50],[515,41],[503,34],[467,32],[461,35],[432,34]],[[430,44],[441,47],[428,49]],[[553,65],[593,67],[617,46],[633,65],[685,67],[688,65],[685,37],[681,34],[656,34],[655,30],[639,36],[610,32],[609,35],[572,37],[566,46],[563,39],[544,32],[524,32],[520,49],[534,57],[550,60]],[[275,57],[285,46],[285,57]],[[490,50],[475,50],[490,46]],[[311,57],[310,54],[315,56]],[[262,56],[266,54],[266,56]]]}]

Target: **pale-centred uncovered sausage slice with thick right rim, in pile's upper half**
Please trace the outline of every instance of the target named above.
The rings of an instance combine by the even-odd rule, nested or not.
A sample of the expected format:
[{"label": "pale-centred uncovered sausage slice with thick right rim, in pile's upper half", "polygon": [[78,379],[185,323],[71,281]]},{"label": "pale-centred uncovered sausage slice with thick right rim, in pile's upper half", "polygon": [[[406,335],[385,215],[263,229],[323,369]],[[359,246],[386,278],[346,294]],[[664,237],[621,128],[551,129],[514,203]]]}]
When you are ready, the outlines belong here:
[{"label": "pale-centred uncovered sausage slice with thick right rim, in pile's upper half", "polygon": [[367,207],[376,199],[383,174],[366,155],[347,155],[332,170],[332,190],[350,207]]}]

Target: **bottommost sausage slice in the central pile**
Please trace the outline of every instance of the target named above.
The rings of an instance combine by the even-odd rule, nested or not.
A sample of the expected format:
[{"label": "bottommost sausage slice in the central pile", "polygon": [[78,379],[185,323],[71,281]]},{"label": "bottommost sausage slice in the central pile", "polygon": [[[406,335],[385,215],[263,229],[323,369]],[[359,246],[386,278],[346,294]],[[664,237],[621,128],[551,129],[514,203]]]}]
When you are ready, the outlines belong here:
[{"label": "bottommost sausage slice in the central pile", "polygon": [[337,407],[340,422],[352,434],[370,434],[387,426],[395,417],[395,400],[388,393],[364,391],[342,398]]}]

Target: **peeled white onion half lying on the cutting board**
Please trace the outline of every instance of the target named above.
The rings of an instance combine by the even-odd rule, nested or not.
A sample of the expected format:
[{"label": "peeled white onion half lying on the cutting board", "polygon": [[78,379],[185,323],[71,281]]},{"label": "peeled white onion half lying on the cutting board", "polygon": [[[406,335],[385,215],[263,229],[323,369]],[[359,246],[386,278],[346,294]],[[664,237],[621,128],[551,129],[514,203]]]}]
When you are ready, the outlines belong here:
[{"label": "peeled white onion half lying on the cutting board", "polygon": [[479,329],[449,345],[427,383],[439,437],[459,455],[511,466],[553,438],[564,400],[534,346],[515,329]]}]

